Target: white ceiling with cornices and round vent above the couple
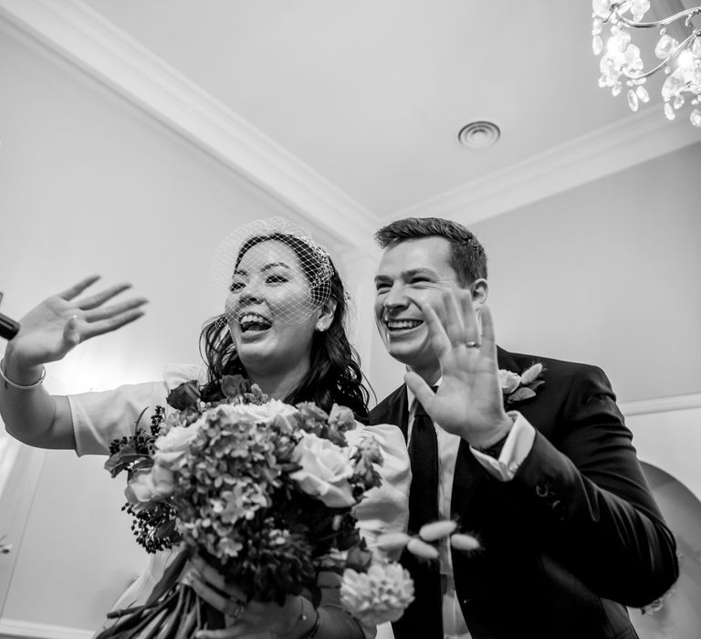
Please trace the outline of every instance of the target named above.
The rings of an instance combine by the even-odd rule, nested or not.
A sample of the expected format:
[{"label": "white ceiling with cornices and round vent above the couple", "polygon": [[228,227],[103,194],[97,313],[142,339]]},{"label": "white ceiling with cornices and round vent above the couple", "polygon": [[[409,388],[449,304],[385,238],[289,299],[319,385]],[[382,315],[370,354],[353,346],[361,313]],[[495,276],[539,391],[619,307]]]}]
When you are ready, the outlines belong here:
[{"label": "white ceiling with cornices and round vent above the couple", "polygon": [[[598,88],[586,1],[0,0],[0,13],[351,236],[399,215],[472,222],[701,140],[659,101],[631,114]],[[496,146],[458,144],[472,120],[498,124]]]}]

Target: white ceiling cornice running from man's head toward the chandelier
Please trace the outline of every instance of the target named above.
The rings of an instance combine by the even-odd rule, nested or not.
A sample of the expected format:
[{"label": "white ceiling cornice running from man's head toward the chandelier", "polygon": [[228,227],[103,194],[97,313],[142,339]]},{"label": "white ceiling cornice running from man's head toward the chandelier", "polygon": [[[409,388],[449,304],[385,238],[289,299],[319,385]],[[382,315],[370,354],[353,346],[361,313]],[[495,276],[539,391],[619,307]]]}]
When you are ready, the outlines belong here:
[{"label": "white ceiling cornice running from man's head toward the chandelier", "polygon": [[474,224],[696,141],[688,122],[670,123],[648,108],[383,219],[433,215]]}]

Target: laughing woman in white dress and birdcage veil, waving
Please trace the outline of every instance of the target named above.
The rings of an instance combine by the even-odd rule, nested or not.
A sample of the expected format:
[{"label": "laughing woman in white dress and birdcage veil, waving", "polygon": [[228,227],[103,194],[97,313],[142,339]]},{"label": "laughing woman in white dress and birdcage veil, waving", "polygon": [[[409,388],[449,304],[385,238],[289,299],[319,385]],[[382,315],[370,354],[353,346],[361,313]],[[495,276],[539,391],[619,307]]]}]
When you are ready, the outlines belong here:
[{"label": "laughing woman in white dress and birdcage veil, waving", "polygon": [[[110,442],[131,435],[145,406],[151,411],[168,391],[198,379],[204,392],[225,374],[240,373],[263,393],[286,403],[313,402],[325,411],[346,405],[360,422],[367,420],[368,393],[361,379],[357,353],[344,322],[347,301],[343,283],[328,253],[306,233],[290,230],[275,218],[246,226],[230,236],[214,258],[215,270],[227,281],[225,310],[202,331],[205,366],[170,366],[160,382],[121,386],[104,393],[69,396],[48,394],[42,387],[44,364],[58,361],[80,342],[117,330],[143,314],[145,299],[111,303],[129,285],[85,291],[97,277],[85,278],[52,296],[20,320],[20,330],[0,361],[0,414],[10,435],[27,445],[74,449],[78,455],[109,455]],[[142,420],[148,423],[150,414]],[[403,435],[396,426],[373,426],[385,462],[382,487],[373,488],[356,515],[363,535],[403,530],[408,508],[409,461]],[[151,571],[141,576],[115,608],[145,601],[173,553],[156,555]],[[234,606],[235,589],[207,566],[199,566],[195,591],[223,613]],[[301,596],[283,605],[249,602],[235,625],[204,631],[206,637],[371,636],[338,602],[338,581],[320,576],[319,608]],[[238,614],[238,613],[237,613]]]}]

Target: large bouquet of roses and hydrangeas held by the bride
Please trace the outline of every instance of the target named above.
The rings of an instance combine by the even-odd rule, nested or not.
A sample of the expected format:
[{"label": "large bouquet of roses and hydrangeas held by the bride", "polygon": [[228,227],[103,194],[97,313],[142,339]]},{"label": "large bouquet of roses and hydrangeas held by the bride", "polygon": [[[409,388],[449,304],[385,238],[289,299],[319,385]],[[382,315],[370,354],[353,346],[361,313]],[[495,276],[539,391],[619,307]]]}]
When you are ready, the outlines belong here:
[{"label": "large bouquet of roses and hydrangeas held by the bride", "polygon": [[[105,467],[112,477],[127,473],[137,541],[150,552],[183,550],[145,604],[110,613],[117,621],[99,639],[179,639],[224,627],[222,613],[180,579],[194,556],[249,599],[318,598],[318,571],[333,570],[344,574],[341,592],[352,593],[342,598],[351,614],[371,610],[375,623],[402,615],[413,583],[396,564],[373,560],[353,516],[380,485],[382,453],[371,435],[348,444],[350,409],[268,401],[239,375],[225,376],[210,396],[183,383],[167,403],[150,427],[138,423],[112,443]],[[375,585],[365,596],[354,587],[359,574]]]}]

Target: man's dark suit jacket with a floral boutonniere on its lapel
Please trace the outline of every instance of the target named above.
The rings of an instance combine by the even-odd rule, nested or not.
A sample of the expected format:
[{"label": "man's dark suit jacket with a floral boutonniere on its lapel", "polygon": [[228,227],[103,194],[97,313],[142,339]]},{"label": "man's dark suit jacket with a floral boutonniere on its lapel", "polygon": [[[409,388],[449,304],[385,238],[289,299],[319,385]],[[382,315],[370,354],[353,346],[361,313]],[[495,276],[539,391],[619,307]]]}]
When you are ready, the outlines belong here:
[{"label": "man's dark suit jacket with a floral boutonniere on its lapel", "polygon": [[[516,477],[489,475],[465,441],[455,462],[453,516],[482,545],[453,551],[467,626],[474,639],[636,637],[624,605],[650,603],[674,583],[675,539],[606,375],[498,349],[500,369],[520,373],[536,361],[545,383],[508,407],[537,431]],[[371,424],[396,424],[406,436],[407,414],[401,386],[371,411]],[[418,571],[417,599],[394,624],[396,639],[443,636],[439,582]]]}]

